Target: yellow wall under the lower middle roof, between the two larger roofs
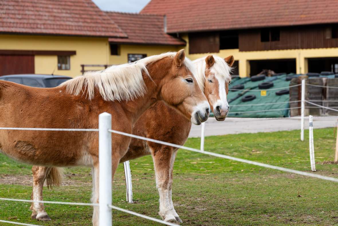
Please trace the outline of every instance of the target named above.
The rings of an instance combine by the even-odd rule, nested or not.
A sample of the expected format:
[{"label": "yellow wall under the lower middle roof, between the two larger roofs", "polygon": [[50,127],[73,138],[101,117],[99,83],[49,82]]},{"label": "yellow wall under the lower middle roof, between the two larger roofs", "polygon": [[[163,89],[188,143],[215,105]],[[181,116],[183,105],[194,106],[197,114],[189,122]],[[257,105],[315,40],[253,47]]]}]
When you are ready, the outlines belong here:
[{"label": "yellow wall under the lower middle roof, between the two larger roofs", "polygon": [[183,49],[183,46],[164,46],[164,45],[120,45],[120,55],[110,55],[109,63],[125,64],[128,63],[128,53],[147,54],[151,55],[161,54],[168,51],[177,51]]}]

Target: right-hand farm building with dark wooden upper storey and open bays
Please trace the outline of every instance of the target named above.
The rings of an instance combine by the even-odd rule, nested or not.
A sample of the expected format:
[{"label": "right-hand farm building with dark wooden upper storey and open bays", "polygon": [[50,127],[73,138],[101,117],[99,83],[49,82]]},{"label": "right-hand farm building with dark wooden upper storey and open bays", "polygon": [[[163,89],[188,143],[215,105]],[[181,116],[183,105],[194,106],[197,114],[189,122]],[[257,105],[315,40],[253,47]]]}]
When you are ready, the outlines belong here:
[{"label": "right-hand farm building with dark wooden upper storey and open bays", "polygon": [[167,32],[184,38],[191,59],[234,55],[242,77],[276,73],[338,73],[338,2],[162,1],[141,14],[166,15]]}]

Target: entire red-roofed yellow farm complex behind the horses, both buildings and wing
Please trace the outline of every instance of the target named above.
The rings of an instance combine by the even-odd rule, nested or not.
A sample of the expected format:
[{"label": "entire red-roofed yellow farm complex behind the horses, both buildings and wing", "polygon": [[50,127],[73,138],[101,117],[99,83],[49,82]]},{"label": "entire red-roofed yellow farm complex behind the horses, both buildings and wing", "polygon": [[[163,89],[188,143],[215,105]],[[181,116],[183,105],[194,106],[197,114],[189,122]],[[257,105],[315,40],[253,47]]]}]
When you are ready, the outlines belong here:
[{"label": "entire red-roofed yellow farm complex behind the horses, both buildings and wing", "polygon": [[0,75],[76,76],[182,48],[192,60],[234,55],[241,77],[263,69],[338,73],[335,0],[152,0],[140,14],[105,12],[91,0],[0,7]]}]

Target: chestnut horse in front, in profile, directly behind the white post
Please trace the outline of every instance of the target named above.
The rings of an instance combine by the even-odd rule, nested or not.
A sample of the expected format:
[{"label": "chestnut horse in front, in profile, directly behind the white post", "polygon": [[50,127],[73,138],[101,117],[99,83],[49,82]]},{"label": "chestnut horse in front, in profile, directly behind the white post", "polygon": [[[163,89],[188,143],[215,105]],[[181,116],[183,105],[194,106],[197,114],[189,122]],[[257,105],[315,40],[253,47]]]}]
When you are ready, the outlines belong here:
[{"label": "chestnut horse in front, in profile, directly behind the white post", "polygon": [[[210,107],[193,73],[194,66],[180,50],[89,72],[56,88],[1,81],[0,127],[98,128],[98,115],[108,112],[114,130],[131,133],[142,113],[158,100],[174,106],[198,125],[207,120]],[[131,139],[112,134],[112,140],[114,175]],[[37,173],[43,177],[50,166],[92,166],[92,202],[98,202],[97,132],[1,130],[0,148],[16,160],[46,166]],[[37,181],[35,177],[34,185]],[[42,199],[39,189],[33,188],[34,200]],[[45,219],[39,208],[39,203],[33,205],[33,216]],[[93,224],[98,225],[97,206]]]}]

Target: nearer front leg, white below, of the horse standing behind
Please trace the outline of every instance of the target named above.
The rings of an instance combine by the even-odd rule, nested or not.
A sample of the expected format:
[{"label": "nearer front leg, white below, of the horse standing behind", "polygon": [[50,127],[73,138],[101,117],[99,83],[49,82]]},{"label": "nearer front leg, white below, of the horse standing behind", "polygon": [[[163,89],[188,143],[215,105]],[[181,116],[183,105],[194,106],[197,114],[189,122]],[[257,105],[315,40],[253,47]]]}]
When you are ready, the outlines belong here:
[{"label": "nearer front leg, white below, of the horse standing behind", "polygon": [[169,181],[170,181],[170,163],[173,154],[173,148],[164,145],[153,145],[156,148],[150,148],[156,176],[156,187],[160,195],[159,214],[165,221],[176,222],[170,209],[169,201]]}]

